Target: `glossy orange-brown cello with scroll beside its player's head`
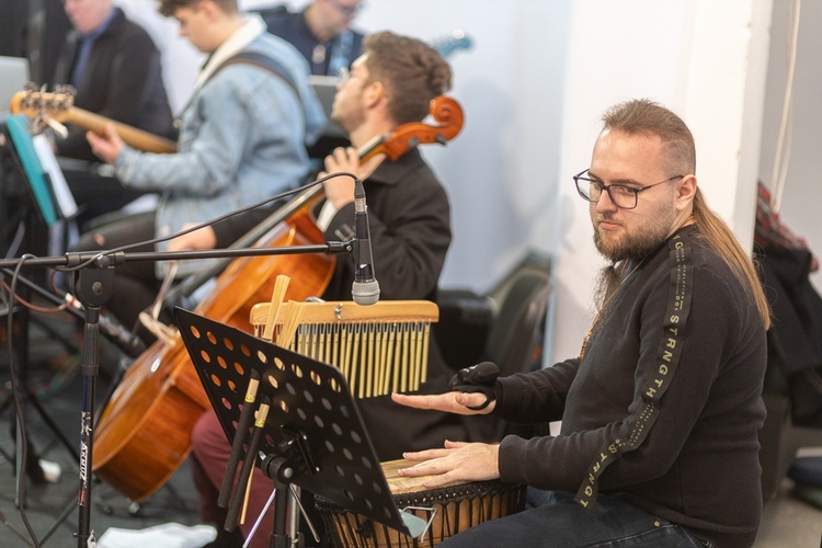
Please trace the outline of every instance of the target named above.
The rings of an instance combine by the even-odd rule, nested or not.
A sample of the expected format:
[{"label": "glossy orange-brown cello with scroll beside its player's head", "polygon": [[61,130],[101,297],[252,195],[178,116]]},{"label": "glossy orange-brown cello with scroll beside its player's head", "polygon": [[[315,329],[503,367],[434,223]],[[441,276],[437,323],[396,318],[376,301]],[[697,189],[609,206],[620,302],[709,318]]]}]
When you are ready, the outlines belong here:
[{"label": "glossy orange-brown cello with scroll beside its player's head", "polygon": [[[419,145],[444,145],[463,127],[463,111],[450,98],[432,100],[431,115],[437,125],[415,122],[377,136],[359,150],[361,161],[377,155],[397,160]],[[296,201],[299,207],[271,228],[255,247],[322,243],[323,235],[312,217],[321,189],[315,185],[296,196],[292,202]],[[282,209],[295,209],[292,202]],[[269,300],[277,275],[292,278],[286,300],[305,300],[323,293],[334,262],[334,258],[321,254],[236,259],[194,311],[251,332],[250,310]],[[100,415],[92,470],[128,499],[144,500],[162,487],[189,456],[191,431],[209,407],[182,338],[175,334],[169,343],[156,342],[129,366]]]}]

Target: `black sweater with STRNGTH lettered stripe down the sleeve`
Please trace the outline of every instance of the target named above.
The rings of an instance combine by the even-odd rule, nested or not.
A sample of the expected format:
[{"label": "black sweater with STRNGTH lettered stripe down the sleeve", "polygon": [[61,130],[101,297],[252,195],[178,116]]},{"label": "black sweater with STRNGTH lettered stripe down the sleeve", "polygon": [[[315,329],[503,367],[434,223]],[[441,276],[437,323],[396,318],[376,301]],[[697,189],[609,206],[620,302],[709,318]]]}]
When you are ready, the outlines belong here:
[{"label": "black sweater with STRNGTH lettered stripe down the sleeve", "polygon": [[[683,243],[685,259],[676,255]],[[683,302],[687,319],[664,326]],[[762,513],[766,365],[753,299],[689,226],[641,263],[608,309],[582,361],[499,381],[501,416],[562,420],[557,437],[506,437],[502,479],[574,492],[595,459],[619,446],[601,490],[718,546],[751,546]]]}]

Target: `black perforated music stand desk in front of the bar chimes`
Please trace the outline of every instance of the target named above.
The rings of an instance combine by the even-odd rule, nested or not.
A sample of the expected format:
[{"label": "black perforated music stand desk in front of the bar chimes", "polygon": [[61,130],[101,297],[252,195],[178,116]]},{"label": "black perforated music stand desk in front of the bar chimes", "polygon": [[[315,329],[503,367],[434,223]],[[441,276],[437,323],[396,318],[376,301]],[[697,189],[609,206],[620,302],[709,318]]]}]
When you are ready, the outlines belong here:
[{"label": "black perforated music stand desk in front of the bar chimes", "polygon": [[319,470],[297,469],[295,484],[411,535],[339,368],[179,307],[174,317],[229,441],[255,369],[258,400],[271,400],[259,450],[281,455],[281,444],[304,434]]}]

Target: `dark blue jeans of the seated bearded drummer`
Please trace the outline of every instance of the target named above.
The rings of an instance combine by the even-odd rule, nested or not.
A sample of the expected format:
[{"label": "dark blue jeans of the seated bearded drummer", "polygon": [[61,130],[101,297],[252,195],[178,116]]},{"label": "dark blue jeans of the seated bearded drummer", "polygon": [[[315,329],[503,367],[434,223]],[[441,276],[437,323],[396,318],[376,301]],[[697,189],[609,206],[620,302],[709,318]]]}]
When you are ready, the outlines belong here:
[{"label": "dark blue jeans of the seated bearded drummer", "polygon": [[709,547],[684,528],[617,496],[600,493],[585,509],[573,493],[528,489],[528,502],[540,504],[484,522],[446,539],[442,548],[477,546],[539,547]]}]

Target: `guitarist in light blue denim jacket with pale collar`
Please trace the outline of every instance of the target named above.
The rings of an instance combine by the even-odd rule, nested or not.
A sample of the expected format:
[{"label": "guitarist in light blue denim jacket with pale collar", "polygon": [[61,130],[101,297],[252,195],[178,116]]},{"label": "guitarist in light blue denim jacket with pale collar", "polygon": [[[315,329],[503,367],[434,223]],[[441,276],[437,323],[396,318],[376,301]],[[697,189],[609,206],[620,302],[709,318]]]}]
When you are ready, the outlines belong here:
[{"label": "guitarist in light blue denim jacket with pale collar", "polygon": [[[111,125],[104,135],[88,134],[94,153],[114,165],[124,185],[160,192],[160,203],[156,213],[84,235],[78,250],[170,236],[186,222],[203,222],[292,187],[310,167],[306,144],[326,124],[305,59],[266,33],[259,16],[243,18],[237,0],[163,0],[160,13],[176,19],[180,34],[209,54],[182,114],[176,153],[140,152],[125,145]],[[278,69],[256,62],[225,65],[238,54],[256,54]],[[118,267],[109,310],[134,323],[153,300],[165,266],[138,261]],[[203,267],[201,261],[185,261],[180,274]],[[141,334],[151,340],[149,333]]]}]

